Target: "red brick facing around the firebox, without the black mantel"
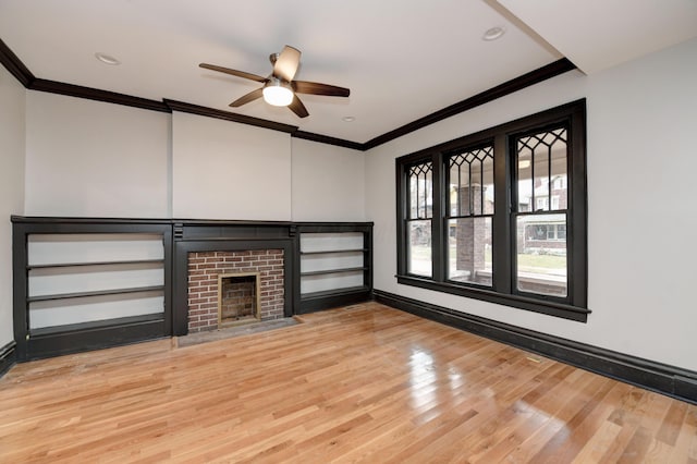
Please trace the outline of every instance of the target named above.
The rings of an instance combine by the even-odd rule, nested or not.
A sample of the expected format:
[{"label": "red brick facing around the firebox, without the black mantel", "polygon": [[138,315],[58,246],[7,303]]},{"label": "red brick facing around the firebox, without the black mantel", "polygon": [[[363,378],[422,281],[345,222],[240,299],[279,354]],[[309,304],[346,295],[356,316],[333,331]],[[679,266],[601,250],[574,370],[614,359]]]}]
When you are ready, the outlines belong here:
[{"label": "red brick facing around the firebox, without the black mantel", "polygon": [[[283,317],[285,272],[282,248],[192,252],[187,259],[189,333],[219,328],[219,278],[235,274],[258,274],[260,320]],[[244,320],[256,318],[245,315]]]}]

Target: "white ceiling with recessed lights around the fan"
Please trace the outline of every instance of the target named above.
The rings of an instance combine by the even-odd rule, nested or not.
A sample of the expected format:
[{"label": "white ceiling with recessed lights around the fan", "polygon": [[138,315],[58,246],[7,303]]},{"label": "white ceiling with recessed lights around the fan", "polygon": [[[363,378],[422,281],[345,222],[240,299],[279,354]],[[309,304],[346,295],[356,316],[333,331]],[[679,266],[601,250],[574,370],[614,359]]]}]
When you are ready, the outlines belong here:
[{"label": "white ceiling with recessed lights around the fan", "polygon": [[[493,26],[506,34],[482,40]],[[592,73],[695,36],[697,0],[0,0],[0,39],[37,77],[358,143],[564,56]],[[232,109],[259,84],[198,68],[267,75],[286,44],[303,52],[296,78],[351,97],[302,96],[305,119]]]}]

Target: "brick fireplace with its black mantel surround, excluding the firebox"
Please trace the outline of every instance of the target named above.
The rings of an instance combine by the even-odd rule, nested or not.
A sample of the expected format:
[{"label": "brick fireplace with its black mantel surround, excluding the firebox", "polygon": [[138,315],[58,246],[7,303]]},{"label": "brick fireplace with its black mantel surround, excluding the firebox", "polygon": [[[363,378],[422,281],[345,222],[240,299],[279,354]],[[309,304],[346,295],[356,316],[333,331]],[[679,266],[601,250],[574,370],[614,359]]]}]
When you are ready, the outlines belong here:
[{"label": "brick fireplace with its black mantel surround, excluding the firebox", "polygon": [[[172,334],[218,329],[220,276],[258,274],[258,319],[254,315],[254,320],[293,316],[298,295],[293,291],[297,262],[291,223],[175,222],[172,235]],[[246,313],[240,317],[242,322],[252,318]]]}]

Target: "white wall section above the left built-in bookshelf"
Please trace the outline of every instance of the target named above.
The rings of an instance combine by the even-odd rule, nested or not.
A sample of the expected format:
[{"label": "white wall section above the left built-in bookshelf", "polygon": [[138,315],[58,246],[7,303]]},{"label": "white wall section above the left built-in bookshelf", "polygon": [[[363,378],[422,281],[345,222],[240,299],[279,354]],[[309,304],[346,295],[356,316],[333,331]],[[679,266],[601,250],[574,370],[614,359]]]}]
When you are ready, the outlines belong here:
[{"label": "white wall section above the left built-in bookshelf", "polygon": [[168,215],[170,115],[27,93],[27,216]]}]

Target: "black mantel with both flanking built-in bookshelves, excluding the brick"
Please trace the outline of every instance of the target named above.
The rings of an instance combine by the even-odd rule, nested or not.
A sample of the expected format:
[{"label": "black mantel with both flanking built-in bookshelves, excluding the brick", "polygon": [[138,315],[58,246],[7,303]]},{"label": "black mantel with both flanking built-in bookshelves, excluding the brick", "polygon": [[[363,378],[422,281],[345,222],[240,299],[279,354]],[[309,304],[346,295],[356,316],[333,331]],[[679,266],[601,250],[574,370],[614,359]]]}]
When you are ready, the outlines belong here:
[{"label": "black mantel with both flanking built-in bookshelves, excluding the brick", "polygon": [[188,253],[283,251],[283,316],[367,301],[372,223],[12,217],[20,362],[185,335]]}]

